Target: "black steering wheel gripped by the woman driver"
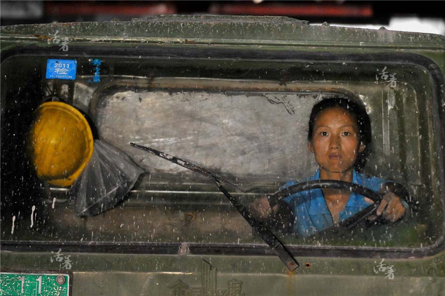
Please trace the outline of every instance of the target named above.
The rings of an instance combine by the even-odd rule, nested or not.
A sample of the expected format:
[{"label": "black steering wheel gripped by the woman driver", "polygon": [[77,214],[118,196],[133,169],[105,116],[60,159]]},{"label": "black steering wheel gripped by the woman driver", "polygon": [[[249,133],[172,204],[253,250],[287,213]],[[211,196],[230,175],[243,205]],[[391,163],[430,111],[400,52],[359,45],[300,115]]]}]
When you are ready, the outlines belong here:
[{"label": "black steering wheel gripped by the woman driver", "polygon": [[[321,189],[321,188],[348,190],[351,192],[358,193],[362,196],[365,196],[374,202],[374,204],[369,205],[363,210],[356,212],[349,218],[340,221],[338,223],[338,226],[344,228],[345,230],[352,228],[358,222],[360,222],[361,220],[365,219],[366,217],[377,211],[377,208],[379,207],[380,202],[382,201],[383,198],[382,195],[379,194],[378,192],[375,192],[362,185],[354,184],[351,182],[337,181],[337,180],[315,180],[315,181],[308,181],[308,182],[294,184],[275,192],[273,195],[268,197],[269,205],[271,208],[273,208],[273,206],[275,206],[280,200],[292,194],[312,189]],[[324,230],[326,229],[323,229],[323,231]]]}]

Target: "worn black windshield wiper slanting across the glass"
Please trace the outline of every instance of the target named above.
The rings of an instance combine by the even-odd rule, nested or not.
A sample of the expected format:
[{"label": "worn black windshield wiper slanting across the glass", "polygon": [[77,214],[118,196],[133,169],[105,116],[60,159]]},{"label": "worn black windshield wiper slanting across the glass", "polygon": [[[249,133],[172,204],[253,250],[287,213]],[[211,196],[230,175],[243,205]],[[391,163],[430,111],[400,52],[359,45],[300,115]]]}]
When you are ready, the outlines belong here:
[{"label": "worn black windshield wiper slanting across the glass", "polygon": [[208,178],[210,178],[212,181],[214,181],[218,189],[223,192],[225,197],[228,198],[230,203],[236,208],[236,210],[239,211],[239,213],[246,219],[246,221],[250,224],[252,228],[254,228],[261,236],[261,238],[266,242],[266,244],[276,252],[278,257],[283,261],[283,263],[286,265],[287,269],[290,271],[295,270],[299,264],[297,260],[290,254],[290,252],[286,249],[284,244],[269,230],[266,226],[264,226],[263,223],[256,220],[252,214],[242,205],[238,202],[237,199],[232,197],[230,193],[223,187],[221,184],[221,181],[218,180],[210,171],[207,169],[204,169],[202,167],[196,166],[192,163],[189,163],[183,159],[180,159],[178,157],[175,157],[173,155],[167,154],[162,151],[158,151],[156,149],[145,147],[142,145],[138,145],[135,143],[130,143],[131,146],[141,149],[143,151],[147,151],[151,154],[154,154],[156,156],[159,156],[165,160],[168,160],[169,162],[172,162],[174,164],[177,164],[178,166],[181,166],[185,169],[190,169],[194,172],[197,172],[199,174],[202,174]]}]

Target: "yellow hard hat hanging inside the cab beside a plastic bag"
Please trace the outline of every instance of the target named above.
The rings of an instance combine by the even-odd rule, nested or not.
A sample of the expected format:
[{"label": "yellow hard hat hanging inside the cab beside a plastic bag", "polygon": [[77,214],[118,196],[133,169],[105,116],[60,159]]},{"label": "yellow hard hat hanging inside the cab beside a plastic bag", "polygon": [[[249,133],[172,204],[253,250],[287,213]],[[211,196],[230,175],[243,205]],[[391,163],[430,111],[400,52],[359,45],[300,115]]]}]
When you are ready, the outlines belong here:
[{"label": "yellow hard hat hanging inside the cab beside a plastic bag", "polygon": [[37,108],[28,140],[37,176],[56,186],[73,184],[87,166],[94,145],[87,119],[62,102],[46,102]]}]

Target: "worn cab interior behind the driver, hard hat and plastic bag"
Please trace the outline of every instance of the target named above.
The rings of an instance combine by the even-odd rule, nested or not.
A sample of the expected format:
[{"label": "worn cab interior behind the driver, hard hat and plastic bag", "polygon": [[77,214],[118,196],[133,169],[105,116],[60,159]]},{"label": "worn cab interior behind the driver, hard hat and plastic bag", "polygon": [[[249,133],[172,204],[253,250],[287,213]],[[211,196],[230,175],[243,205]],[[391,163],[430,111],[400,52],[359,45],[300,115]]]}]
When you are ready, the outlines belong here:
[{"label": "worn cab interior behind the driver, hard hat and plastic bag", "polygon": [[[65,242],[262,243],[212,181],[137,150],[149,146],[215,174],[243,205],[317,169],[307,146],[313,104],[354,96],[372,122],[364,172],[403,184],[412,213],[394,225],[298,238],[287,244],[415,247],[442,231],[429,76],[391,63],[71,57],[75,80],[45,79],[46,60],[1,64],[1,239]],[[70,59],[70,57],[64,57]],[[20,69],[17,71],[17,69]],[[30,167],[26,123],[63,100],[98,137],[144,170],[113,209],[79,217],[71,188],[45,186]],[[25,123],[25,124],[23,124]]]}]

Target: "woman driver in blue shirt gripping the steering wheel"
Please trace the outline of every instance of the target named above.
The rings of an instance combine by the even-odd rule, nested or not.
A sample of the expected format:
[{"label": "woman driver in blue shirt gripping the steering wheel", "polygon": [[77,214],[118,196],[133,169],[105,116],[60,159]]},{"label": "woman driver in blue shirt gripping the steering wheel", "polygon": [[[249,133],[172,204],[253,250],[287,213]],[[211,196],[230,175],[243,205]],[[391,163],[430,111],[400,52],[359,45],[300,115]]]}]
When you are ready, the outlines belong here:
[{"label": "woman driver in blue shirt gripping the steering wheel", "polygon": [[[356,170],[364,165],[367,145],[371,142],[371,124],[363,106],[346,98],[318,102],[312,108],[308,141],[319,167],[308,180],[329,179],[363,185],[383,195],[376,214],[384,220],[395,222],[405,214],[408,205],[394,193],[400,192],[399,184],[368,177]],[[296,183],[287,182],[280,189]],[[258,198],[251,204],[251,210],[260,219],[289,212],[293,217],[290,222],[292,232],[307,237],[334,226],[372,203],[349,190],[325,188],[293,194],[273,208],[270,208],[267,197]]]}]

